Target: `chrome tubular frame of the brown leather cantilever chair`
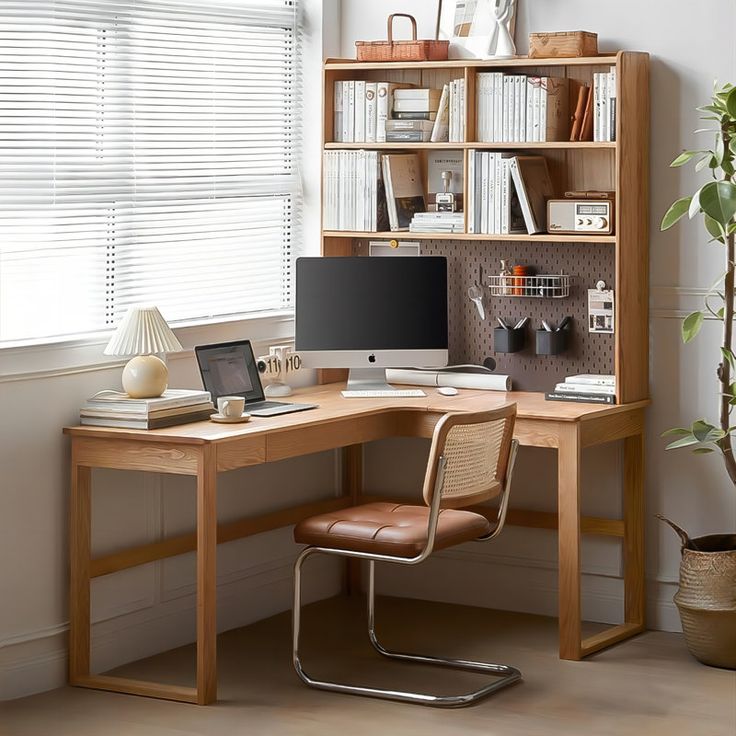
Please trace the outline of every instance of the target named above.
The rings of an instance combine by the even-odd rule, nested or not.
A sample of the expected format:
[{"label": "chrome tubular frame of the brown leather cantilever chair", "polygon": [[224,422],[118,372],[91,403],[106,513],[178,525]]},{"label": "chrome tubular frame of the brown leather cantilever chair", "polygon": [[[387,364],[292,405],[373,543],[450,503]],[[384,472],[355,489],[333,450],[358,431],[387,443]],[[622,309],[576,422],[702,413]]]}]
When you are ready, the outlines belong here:
[{"label": "chrome tubular frame of the brown leather cantilever chair", "polygon": [[[509,452],[509,460],[506,472],[505,484],[499,499],[496,523],[493,529],[477,541],[488,541],[496,537],[503,529],[506,521],[506,512],[508,510],[509,492],[511,490],[511,479],[513,476],[514,465],[516,462],[516,454],[518,452],[519,443],[512,440]],[[421,654],[409,654],[405,652],[395,652],[386,649],[378,640],[375,629],[375,563],[376,562],[395,562],[399,565],[418,565],[424,562],[431,554],[434,548],[435,535],[437,532],[437,523],[440,514],[440,503],[442,499],[442,484],[444,479],[445,458],[438,458],[437,476],[434,484],[434,493],[432,495],[432,503],[430,505],[427,543],[424,549],[415,557],[395,557],[393,555],[377,555],[367,552],[354,552],[350,550],[336,550],[328,547],[307,547],[299,557],[297,557],[294,565],[294,606],[292,609],[292,660],[294,669],[304,683],[310,687],[320,690],[331,690],[333,692],[347,693],[350,695],[363,695],[373,698],[383,698],[386,700],[396,700],[404,703],[418,703],[421,705],[432,705],[445,708],[457,708],[464,705],[475,703],[481,698],[495,693],[502,688],[513,685],[521,680],[521,672],[514,667],[504,664],[493,664],[490,662],[476,662],[464,659],[451,659],[447,657],[432,657]],[[397,659],[403,662],[415,662],[418,664],[441,665],[443,667],[451,667],[454,669],[469,670],[472,672],[480,672],[494,675],[496,679],[484,687],[461,695],[428,695],[423,693],[414,693],[403,690],[388,690],[382,688],[365,687],[360,685],[346,685],[344,683],[330,682],[327,680],[315,680],[310,677],[302,667],[299,658],[299,635],[301,632],[301,578],[302,565],[313,554],[337,555],[340,557],[353,557],[360,560],[369,561],[369,578],[368,578],[368,637],[374,649],[379,654]]]}]

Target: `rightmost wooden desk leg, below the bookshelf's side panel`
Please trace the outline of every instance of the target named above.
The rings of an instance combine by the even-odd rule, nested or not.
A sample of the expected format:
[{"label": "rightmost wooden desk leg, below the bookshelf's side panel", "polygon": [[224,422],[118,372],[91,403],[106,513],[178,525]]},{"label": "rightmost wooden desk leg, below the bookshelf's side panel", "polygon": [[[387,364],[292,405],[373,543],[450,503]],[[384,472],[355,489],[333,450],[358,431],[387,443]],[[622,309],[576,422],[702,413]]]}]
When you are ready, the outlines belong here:
[{"label": "rightmost wooden desk leg, below the bookshelf's side panel", "polygon": [[644,436],[624,440],[624,612],[627,624],[644,627]]}]

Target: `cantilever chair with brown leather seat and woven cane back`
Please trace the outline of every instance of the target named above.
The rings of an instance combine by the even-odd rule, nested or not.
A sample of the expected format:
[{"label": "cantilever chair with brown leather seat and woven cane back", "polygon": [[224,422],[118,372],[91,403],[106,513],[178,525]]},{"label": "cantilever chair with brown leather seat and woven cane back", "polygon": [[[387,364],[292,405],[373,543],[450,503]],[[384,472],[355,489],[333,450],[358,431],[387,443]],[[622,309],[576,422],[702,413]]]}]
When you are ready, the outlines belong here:
[{"label": "cantilever chair with brown leather seat and woven cane back", "polygon": [[[521,679],[507,665],[406,654],[385,649],[375,631],[375,563],[417,565],[436,549],[470,540],[489,540],[503,528],[511,476],[518,448],[512,439],[516,404],[467,414],[448,414],[432,437],[424,479],[425,506],[370,503],[305,519],[294,529],[296,542],[308,545],[294,566],[293,662],[299,677],[311,687],[354,695],[423,705],[468,705]],[[495,523],[464,506],[498,498]],[[368,636],[386,657],[405,662],[436,664],[493,675],[479,690],[462,695],[428,695],[314,680],[299,659],[301,573],[313,554],[341,555],[369,561]]]}]

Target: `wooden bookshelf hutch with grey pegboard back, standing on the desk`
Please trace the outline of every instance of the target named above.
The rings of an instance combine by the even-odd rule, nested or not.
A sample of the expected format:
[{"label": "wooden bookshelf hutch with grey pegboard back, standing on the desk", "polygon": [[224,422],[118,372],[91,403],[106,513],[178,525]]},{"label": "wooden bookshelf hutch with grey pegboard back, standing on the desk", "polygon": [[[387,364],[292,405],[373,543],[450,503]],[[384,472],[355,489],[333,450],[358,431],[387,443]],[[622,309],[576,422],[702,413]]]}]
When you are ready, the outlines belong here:
[{"label": "wooden bookshelf hutch with grey pegboard back, standing on the desk", "polygon": [[[590,86],[593,75],[615,67],[616,131],[614,142],[548,141],[494,143],[473,140],[477,127],[477,79],[480,72],[565,77],[570,95],[580,85]],[[341,143],[334,140],[335,82],[364,80],[415,87],[442,89],[455,79],[465,81],[464,113],[468,139],[461,143]],[[505,355],[495,351],[500,372],[510,373],[521,390],[549,390],[555,380],[576,373],[612,373],[616,376],[617,402],[647,399],[648,379],[648,157],[649,157],[649,56],[637,51],[619,51],[585,58],[530,59],[517,57],[481,61],[462,59],[430,62],[365,63],[331,59],[324,65],[324,151],[366,150],[416,152],[424,196],[429,190],[429,167],[438,151],[462,151],[463,193],[470,184],[469,151],[524,151],[543,155],[553,191],[562,197],[568,191],[611,191],[616,196],[613,235],[500,235],[470,233],[412,233],[336,231],[323,229],[322,253],[327,256],[367,254],[369,240],[421,241],[422,253],[443,255],[450,263],[451,319],[455,325],[451,356],[465,362],[482,362],[494,351],[489,322],[481,322],[465,295],[477,278],[478,268],[486,275],[498,273],[500,259],[527,264],[541,274],[569,274],[574,280],[568,299],[528,300],[524,315],[533,323],[542,319],[573,318],[571,349],[552,359],[540,358],[531,350]],[[564,131],[554,137],[569,138]],[[552,136],[550,136],[552,137]],[[455,157],[457,159],[458,157]],[[477,163],[477,160],[475,160]],[[435,164],[436,166],[436,164]],[[476,172],[477,174],[477,172]],[[436,190],[432,190],[436,191]],[[472,197],[463,197],[461,206]],[[477,201],[477,200],[475,200]],[[466,213],[466,227],[471,213]],[[356,224],[361,221],[358,220]],[[587,290],[604,280],[614,290],[615,332],[589,334]],[[559,301],[560,305],[556,302]],[[539,302],[532,303],[532,302]],[[506,307],[513,309],[513,307]],[[564,310],[564,311],[562,311]]]}]

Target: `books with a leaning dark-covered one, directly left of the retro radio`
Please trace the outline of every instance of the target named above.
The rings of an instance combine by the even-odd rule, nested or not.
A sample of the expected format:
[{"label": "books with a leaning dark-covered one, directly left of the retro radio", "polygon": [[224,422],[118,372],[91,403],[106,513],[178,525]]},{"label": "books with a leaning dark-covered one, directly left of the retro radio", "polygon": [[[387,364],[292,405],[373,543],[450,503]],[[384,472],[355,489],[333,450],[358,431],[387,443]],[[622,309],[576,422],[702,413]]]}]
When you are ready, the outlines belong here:
[{"label": "books with a leaning dark-covered one, directly left of the retro radio", "polygon": [[546,232],[554,190],[543,156],[470,150],[468,181],[468,232]]}]

